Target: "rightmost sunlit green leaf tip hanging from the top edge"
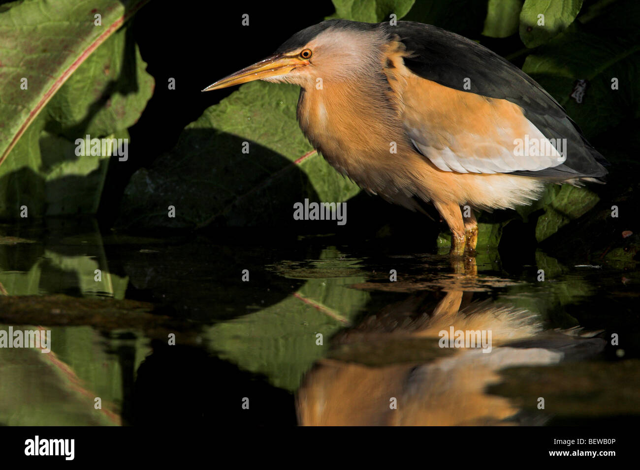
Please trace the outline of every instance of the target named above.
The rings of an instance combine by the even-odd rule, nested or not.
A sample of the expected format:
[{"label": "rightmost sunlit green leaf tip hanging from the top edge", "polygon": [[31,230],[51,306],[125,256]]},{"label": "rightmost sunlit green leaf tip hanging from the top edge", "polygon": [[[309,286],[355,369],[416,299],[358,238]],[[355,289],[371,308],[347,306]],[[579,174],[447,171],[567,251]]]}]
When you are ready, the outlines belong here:
[{"label": "rightmost sunlit green leaf tip hanging from the top edge", "polygon": [[582,0],[525,0],[520,12],[520,39],[529,48],[548,42],[572,24],[580,8]]}]

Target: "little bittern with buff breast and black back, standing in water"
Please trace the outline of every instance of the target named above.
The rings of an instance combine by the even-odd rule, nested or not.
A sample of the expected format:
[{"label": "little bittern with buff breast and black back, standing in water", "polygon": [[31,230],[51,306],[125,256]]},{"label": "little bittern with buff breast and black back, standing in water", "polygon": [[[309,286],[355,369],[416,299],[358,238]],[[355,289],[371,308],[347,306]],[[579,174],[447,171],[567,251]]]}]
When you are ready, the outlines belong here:
[{"label": "little bittern with buff breast and black back, standing in water", "polygon": [[[598,182],[607,164],[563,107],[486,47],[416,22],[328,20],[204,91],[301,87],[298,122],[343,175],[412,210],[431,201],[451,252],[473,252],[472,210],[513,208],[546,183]],[[320,86],[321,84],[321,86]]]}]

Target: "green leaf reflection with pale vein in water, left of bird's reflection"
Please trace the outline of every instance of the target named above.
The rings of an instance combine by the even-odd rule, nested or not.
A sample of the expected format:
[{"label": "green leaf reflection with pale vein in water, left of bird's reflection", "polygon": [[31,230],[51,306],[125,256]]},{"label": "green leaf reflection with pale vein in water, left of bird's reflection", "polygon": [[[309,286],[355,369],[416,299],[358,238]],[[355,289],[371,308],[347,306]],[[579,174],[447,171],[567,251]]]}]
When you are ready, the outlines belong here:
[{"label": "green leaf reflection with pale vein in water, left of bird's reflection", "polygon": [[[317,263],[339,256],[327,249]],[[308,276],[307,283],[277,304],[210,327],[205,336],[212,349],[244,370],[266,375],[276,387],[296,391],[305,372],[328,353],[333,334],[355,320],[369,301],[368,292],[349,287],[364,277],[326,278],[327,269],[318,270],[324,278],[289,272]],[[317,334],[323,336],[322,345]]]}]

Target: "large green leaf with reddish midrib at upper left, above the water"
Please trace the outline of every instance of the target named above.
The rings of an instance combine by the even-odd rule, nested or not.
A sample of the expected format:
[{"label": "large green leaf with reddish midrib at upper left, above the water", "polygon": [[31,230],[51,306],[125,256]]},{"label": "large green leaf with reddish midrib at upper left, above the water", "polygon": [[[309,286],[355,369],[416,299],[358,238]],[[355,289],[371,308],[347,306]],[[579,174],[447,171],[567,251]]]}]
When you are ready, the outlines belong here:
[{"label": "large green leaf with reddish midrib at upper left, above the water", "polygon": [[[120,28],[114,33],[127,17],[124,10],[120,16],[103,13],[102,27],[93,26],[91,22],[91,29],[86,31],[84,41],[92,37],[94,30],[102,30],[104,37],[93,38],[93,42],[86,45],[83,42],[76,43],[82,38],[76,38],[74,42],[65,36],[70,34],[69,31],[86,29],[81,20],[77,19],[78,24],[72,20],[56,22],[58,29],[49,31],[47,21],[50,19],[39,16],[31,4],[25,2],[15,5],[0,15],[0,22],[13,15],[25,23],[26,26],[19,29],[20,36],[12,40],[16,47],[39,51],[33,56],[42,58],[42,61],[34,58],[33,64],[28,67],[22,65],[22,74],[29,77],[28,89],[20,90],[19,85],[13,87],[22,92],[21,101],[12,95],[9,84],[0,85],[8,88],[6,95],[4,90],[0,91],[3,96],[0,98],[0,115],[3,116],[3,122],[7,123],[0,127],[0,136],[1,132],[22,122],[12,143],[5,142],[5,136],[2,136],[2,143],[8,145],[5,152],[11,153],[0,166],[0,217],[18,217],[23,206],[28,208],[29,217],[93,214],[99,205],[109,156],[76,155],[76,139],[84,139],[87,135],[91,138],[128,139],[126,129],[138,120],[147,105],[154,80],[145,72],[146,64],[132,42],[131,29]],[[71,4],[61,6],[72,8]],[[105,11],[111,10],[106,8]],[[40,13],[53,14],[47,8]],[[69,16],[73,17],[73,14],[69,13]],[[111,24],[107,24],[107,21],[111,21]],[[53,45],[47,43],[45,47],[42,43],[44,39],[34,40],[40,36],[29,29],[30,22],[47,25],[38,29],[44,30],[40,34],[46,33],[56,38],[63,36],[63,39]],[[0,26],[2,33],[4,31]],[[26,35],[24,39],[22,34]],[[74,50],[77,56],[71,54]],[[12,54],[8,54],[8,58],[10,61],[14,59]],[[45,61],[54,62],[54,58],[62,62],[74,59],[74,62],[67,68],[54,70],[45,67]],[[38,70],[38,75],[33,75],[33,79],[26,73],[31,67],[33,70],[37,67]],[[49,75],[55,77],[56,74],[59,75],[58,81],[45,80]],[[7,79],[13,80],[12,77]],[[11,111],[18,104],[21,109],[31,109],[23,121],[19,120],[20,113]],[[10,140],[10,136],[7,135],[6,139]]]}]

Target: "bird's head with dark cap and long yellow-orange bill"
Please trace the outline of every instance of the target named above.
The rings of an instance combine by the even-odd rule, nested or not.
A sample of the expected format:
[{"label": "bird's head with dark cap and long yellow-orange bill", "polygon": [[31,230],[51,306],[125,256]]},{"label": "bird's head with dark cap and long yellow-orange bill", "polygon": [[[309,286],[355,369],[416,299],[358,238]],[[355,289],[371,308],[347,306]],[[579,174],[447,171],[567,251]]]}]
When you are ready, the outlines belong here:
[{"label": "bird's head with dark cap and long yellow-orange bill", "polygon": [[202,91],[265,80],[315,86],[317,79],[343,81],[380,70],[381,49],[387,37],[376,24],[328,20],[293,35],[272,56]]}]

